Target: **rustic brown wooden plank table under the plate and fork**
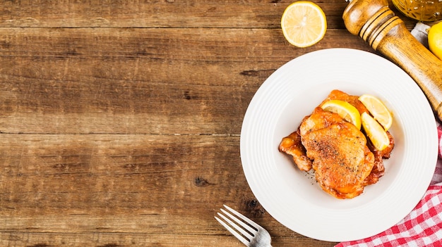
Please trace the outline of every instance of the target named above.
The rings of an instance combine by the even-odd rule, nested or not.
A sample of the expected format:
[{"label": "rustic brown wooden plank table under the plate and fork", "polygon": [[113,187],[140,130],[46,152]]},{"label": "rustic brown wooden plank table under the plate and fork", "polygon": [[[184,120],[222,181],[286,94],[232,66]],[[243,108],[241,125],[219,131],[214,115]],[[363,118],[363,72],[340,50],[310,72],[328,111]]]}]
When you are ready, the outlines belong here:
[{"label": "rustic brown wooden plank table under the plate and fork", "polygon": [[327,33],[299,49],[280,30],[291,1],[0,1],[0,246],[243,246],[214,219],[224,203],[273,246],[334,246],[266,213],[239,156],[277,68],[374,52],[344,0],[316,2]]}]

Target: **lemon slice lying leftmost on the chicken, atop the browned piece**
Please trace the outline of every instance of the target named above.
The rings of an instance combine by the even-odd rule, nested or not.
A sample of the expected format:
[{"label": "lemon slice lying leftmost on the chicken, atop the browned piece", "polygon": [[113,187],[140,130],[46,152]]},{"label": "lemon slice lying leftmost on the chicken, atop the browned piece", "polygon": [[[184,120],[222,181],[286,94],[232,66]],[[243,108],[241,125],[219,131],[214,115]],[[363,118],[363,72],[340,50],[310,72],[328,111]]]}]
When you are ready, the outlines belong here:
[{"label": "lemon slice lying leftmost on the chicken, atop the browned piece", "polygon": [[344,118],[347,122],[351,122],[358,129],[361,129],[361,115],[359,114],[359,110],[347,101],[337,99],[325,101],[321,108],[332,113],[337,113],[341,118]]}]

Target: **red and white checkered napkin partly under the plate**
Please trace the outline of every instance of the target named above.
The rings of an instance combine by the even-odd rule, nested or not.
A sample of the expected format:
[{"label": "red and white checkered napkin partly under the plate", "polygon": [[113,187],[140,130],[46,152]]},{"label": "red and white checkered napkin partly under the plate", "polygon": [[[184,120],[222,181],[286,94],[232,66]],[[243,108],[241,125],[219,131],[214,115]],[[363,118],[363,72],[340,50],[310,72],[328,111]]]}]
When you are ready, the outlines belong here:
[{"label": "red and white checkered napkin partly under the plate", "polygon": [[431,184],[416,208],[395,226],[375,236],[335,247],[442,246],[442,126],[438,124],[439,158]]}]

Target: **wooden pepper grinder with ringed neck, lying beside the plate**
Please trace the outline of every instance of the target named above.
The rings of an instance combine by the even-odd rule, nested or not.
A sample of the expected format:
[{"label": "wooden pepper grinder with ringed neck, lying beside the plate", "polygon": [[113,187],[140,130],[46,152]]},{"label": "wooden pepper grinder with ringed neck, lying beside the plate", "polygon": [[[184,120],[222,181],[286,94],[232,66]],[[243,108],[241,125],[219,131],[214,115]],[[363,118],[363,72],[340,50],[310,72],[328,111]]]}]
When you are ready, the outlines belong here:
[{"label": "wooden pepper grinder with ringed neck, lying beside the plate", "polygon": [[[387,0],[352,0],[345,27],[410,75],[442,121],[442,61],[415,39]],[[400,89],[398,89],[400,90]]]}]

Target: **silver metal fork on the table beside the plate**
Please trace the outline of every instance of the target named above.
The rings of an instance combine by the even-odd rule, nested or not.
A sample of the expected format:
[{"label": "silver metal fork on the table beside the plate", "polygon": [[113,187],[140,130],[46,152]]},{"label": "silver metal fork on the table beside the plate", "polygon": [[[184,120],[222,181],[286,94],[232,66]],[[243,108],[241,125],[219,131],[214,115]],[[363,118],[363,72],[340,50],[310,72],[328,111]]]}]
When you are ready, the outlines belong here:
[{"label": "silver metal fork on the table beside the plate", "polygon": [[[272,241],[272,239],[270,238],[270,234],[263,227],[261,227],[259,224],[256,224],[255,222],[253,222],[249,218],[245,217],[244,215],[241,215],[240,213],[233,210],[232,208],[229,208],[227,205],[224,205],[224,206],[227,210],[229,210],[231,213],[233,213],[234,215],[237,216],[237,217],[235,217],[231,213],[220,208],[221,212],[224,213],[225,215],[227,215],[234,222],[232,220],[230,220],[228,217],[226,217],[225,215],[222,215],[221,213],[217,213],[217,214],[224,221],[220,220],[220,218],[218,218],[216,216],[215,216],[215,219],[218,222],[220,222],[220,224],[222,224],[222,226],[224,226],[227,230],[229,230],[230,233],[232,233],[234,236],[236,236],[237,239],[239,239],[239,241],[241,241],[242,243],[244,243],[248,247],[272,247],[270,245],[270,242]],[[246,222],[247,224],[242,222],[241,220],[239,220],[238,217],[241,220],[243,220],[244,222]],[[232,226],[237,231],[232,229],[232,227],[230,227],[230,226]]]}]

